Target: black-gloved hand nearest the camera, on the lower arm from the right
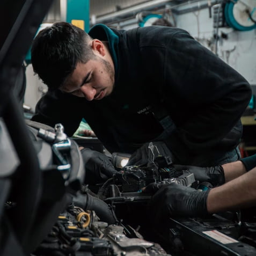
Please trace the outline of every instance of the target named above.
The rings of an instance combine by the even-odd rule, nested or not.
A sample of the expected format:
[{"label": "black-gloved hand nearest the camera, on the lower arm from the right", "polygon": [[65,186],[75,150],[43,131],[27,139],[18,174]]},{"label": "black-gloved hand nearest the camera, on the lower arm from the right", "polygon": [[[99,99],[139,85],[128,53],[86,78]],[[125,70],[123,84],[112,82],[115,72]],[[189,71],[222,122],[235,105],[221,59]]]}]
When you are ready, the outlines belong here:
[{"label": "black-gloved hand nearest the camera, on the lower arm from the right", "polygon": [[150,210],[156,222],[163,222],[170,216],[204,216],[207,215],[206,200],[208,191],[196,191],[191,187],[175,183],[151,183],[143,192],[153,194]]}]

